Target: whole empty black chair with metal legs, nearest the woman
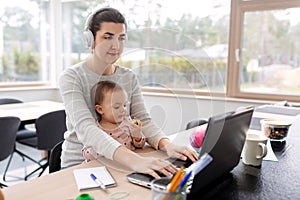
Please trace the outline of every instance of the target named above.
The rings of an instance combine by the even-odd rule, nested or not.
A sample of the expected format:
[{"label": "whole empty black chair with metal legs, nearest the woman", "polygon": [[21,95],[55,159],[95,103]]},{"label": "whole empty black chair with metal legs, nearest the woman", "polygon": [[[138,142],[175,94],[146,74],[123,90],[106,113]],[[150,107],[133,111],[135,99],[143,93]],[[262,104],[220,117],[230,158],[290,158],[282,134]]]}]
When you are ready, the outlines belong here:
[{"label": "whole empty black chair with metal legs, nearest the woman", "polygon": [[[51,149],[63,140],[66,128],[66,114],[64,110],[53,111],[42,115],[35,121],[37,132],[37,141],[31,139],[20,140],[21,144],[25,144],[39,150],[48,151],[48,156],[38,161],[39,167],[25,176],[25,180],[31,175],[41,170],[38,176],[41,176],[49,166]],[[46,161],[43,163],[43,161]]]}]

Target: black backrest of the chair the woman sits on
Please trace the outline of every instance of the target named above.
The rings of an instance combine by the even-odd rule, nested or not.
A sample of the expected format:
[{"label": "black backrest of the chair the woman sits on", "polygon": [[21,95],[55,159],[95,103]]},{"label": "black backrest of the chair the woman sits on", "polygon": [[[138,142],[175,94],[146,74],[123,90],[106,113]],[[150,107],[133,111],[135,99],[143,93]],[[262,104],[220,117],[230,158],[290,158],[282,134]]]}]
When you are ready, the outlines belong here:
[{"label": "black backrest of the chair the woman sits on", "polygon": [[49,173],[56,172],[61,169],[60,156],[61,156],[63,142],[64,141],[60,141],[51,150],[50,159],[49,159]]}]

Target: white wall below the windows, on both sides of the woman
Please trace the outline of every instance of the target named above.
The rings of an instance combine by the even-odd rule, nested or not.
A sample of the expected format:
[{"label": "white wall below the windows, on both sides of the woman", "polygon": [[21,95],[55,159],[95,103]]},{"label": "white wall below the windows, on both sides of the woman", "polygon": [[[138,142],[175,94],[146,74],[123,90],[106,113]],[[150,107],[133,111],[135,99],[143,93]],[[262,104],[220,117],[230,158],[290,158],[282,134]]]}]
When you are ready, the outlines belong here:
[{"label": "white wall below the windows, on both sides of the woman", "polygon": [[[61,101],[57,88],[28,88],[26,90],[1,90],[1,97],[16,97],[25,102],[36,100]],[[188,121],[234,110],[240,106],[258,106],[269,102],[228,99],[222,97],[198,97],[188,95],[144,93],[146,107],[153,121],[166,134],[185,129]]]}]

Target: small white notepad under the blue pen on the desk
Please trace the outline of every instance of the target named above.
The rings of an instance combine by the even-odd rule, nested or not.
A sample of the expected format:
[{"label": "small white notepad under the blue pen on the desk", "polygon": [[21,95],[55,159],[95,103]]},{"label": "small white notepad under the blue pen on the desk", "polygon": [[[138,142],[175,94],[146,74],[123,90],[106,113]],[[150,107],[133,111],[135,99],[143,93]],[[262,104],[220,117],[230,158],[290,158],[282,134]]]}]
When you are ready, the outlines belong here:
[{"label": "small white notepad under the blue pen on the desk", "polygon": [[78,190],[99,188],[99,185],[91,178],[91,174],[94,174],[106,187],[113,187],[117,185],[113,176],[105,166],[75,169],[73,174]]}]

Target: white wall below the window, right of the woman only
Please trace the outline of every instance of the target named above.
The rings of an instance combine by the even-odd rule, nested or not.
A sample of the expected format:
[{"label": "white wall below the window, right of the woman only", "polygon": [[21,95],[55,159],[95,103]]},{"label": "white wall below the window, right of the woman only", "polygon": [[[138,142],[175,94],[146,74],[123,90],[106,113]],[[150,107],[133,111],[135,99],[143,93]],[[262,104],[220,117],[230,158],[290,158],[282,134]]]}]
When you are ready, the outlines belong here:
[{"label": "white wall below the window, right of the woman only", "polygon": [[195,118],[209,118],[212,115],[235,110],[240,106],[259,106],[270,102],[236,101],[228,98],[171,96],[145,93],[144,99],[154,122],[165,133],[184,130],[186,124]]}]

